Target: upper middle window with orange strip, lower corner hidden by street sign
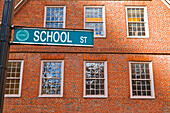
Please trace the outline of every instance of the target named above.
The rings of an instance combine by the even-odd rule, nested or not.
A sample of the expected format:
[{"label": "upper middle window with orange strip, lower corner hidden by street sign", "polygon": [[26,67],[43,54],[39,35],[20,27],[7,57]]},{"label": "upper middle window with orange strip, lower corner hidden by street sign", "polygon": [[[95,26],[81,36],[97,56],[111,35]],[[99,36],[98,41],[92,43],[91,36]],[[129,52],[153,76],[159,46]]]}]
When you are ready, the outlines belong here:
[{"label": "upper middle window with orange strip, lower corner hidden by street sign", "polygon": [[84,7],[84,28],[94,29],[94,37],[106,37],[105,6]]}]

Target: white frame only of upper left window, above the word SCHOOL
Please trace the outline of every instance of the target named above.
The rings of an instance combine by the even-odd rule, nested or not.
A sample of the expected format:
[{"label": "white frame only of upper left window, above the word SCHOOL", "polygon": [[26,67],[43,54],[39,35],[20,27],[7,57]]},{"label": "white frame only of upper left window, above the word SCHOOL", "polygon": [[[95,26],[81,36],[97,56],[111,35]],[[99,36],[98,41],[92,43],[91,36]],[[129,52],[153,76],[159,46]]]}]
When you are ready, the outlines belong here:
[{"label": "white frame only of upper left window, above the word SCHOOL", "polygon": [[66,6],[45,6],[45,10],[44,10],[44,27],[46,27],[47,8],[63,8],[63,28],[65,28]]}]

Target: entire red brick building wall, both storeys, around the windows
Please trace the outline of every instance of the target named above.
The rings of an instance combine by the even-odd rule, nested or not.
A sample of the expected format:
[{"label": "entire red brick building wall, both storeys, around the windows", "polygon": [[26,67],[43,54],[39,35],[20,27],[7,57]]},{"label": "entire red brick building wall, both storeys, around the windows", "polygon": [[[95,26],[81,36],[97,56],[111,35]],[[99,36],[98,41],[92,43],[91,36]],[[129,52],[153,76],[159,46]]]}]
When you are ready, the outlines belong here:
[{"label": "entire red brick building wall, both storeys, around the windows", "polygon": [[[43,27],[44,7],[65,5],[66,28],[83,29],[84,6],[105,5],[106,38],[94,47],[11,45],[9,59],[24,60],[22,95],[5,98],[4,112],[169,112],[170,11],[161,1],[28,0],[14,25]],[[147,6],[148,39],[126,37],[126,5]],[[64,60],[62,98],[40,98],[41,60]],[[83,98],[83,62],[107,61],[108,98]],[[128,61],[152,61],[155,99],[130,99]]]}]

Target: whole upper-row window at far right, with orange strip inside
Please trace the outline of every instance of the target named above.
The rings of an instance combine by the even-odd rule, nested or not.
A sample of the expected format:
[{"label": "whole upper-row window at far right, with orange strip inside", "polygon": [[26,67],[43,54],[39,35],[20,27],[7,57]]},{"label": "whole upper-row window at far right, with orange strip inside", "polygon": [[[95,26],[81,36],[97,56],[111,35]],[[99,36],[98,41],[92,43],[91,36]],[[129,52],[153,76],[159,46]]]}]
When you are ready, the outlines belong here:
[{"label": "whole upper-row window at far right, with orange strip inside", "polygon": [[147,7],[126,6],[127,38],[149,38]]}]

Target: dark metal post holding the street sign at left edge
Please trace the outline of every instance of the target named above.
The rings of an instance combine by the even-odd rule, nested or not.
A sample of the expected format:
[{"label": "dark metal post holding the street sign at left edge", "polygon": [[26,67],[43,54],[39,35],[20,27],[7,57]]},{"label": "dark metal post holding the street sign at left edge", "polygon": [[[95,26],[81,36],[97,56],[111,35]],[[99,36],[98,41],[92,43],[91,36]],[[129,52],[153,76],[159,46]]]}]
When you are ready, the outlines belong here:
[{"label": "dark metal post holding the street sign at left edge", "polygon": [[0,113],[3,112],[5,80],[11,39],[11,23],[14,0],[4,0],[4,10],[0,31]]}]

